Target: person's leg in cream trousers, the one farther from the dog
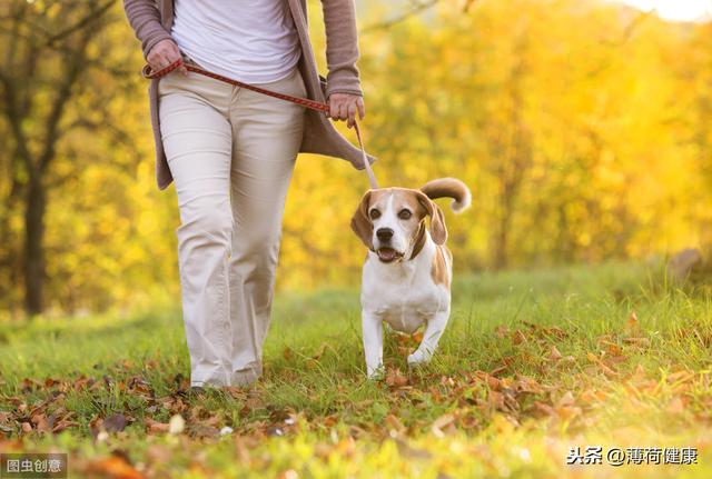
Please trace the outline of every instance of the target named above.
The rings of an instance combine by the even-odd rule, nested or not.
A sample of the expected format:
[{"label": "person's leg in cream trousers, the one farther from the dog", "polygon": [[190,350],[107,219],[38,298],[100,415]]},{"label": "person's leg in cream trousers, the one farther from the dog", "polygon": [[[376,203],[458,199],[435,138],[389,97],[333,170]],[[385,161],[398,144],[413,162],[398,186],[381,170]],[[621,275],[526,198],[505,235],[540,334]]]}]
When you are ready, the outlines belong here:
[{"label": "person's leg in cream trousers, the one farther from the dog", "polygon": [[176,233],[191,386],[230,383],[230,93],[196,73],[171,73],[159,84],[161,134],[180,211]]}]

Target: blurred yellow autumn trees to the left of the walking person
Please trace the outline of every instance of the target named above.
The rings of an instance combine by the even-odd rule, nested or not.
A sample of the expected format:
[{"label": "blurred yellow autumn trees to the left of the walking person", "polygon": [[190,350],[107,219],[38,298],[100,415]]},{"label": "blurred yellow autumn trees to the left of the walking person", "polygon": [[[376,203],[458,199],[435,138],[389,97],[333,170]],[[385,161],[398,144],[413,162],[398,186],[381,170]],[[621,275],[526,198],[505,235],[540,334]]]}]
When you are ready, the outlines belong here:
[{"label": "blurred yellow autumn trees to the left of the walking person", "polygon": [[164,217],[142,217],[156,204],[141,167],[146,84],[119,3],[0,3],[0,301],[11,312],[103,308],[162,265],[172,272],[168,248],[158,260],[161,245],[142,241]]}]

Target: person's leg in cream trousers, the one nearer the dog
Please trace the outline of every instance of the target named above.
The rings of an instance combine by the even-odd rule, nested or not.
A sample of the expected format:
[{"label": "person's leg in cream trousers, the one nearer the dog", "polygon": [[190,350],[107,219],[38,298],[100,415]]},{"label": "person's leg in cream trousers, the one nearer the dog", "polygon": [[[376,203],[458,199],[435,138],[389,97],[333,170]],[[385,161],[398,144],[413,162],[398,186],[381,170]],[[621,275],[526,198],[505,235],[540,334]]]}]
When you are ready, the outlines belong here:
[{"label": "person's leg in cream trousers, the one nearer the dog", "polygon": [[[261,87],[304,96],[295,69]],[[231,200],[235,228],[230,259],[233,385],[254,382],[263,370],[263,342],[269,326],[281,217],[301,142],[304,108],[240,89],[234,100]]]}]

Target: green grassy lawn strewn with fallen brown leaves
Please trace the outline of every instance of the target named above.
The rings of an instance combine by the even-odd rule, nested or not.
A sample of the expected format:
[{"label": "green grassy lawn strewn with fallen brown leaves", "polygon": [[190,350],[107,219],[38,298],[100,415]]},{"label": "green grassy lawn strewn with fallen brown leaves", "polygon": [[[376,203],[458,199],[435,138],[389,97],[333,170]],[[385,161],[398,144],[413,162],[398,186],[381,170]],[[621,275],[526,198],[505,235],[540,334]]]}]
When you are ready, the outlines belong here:
[{"label": "green grassy lawn strewn with fallen brown leaves", "polygon": [[[415,339],[389,333],[375,382],[357,291],[283,293],[264,379],[202,395],[175,306],[0,323],[0,450],[68,452],[70,477],[712,477],[709,292],[609,263],[459,276],[453,297],[433,363],[409,371]],[[566,465],[587,446],[603,465]]]}]

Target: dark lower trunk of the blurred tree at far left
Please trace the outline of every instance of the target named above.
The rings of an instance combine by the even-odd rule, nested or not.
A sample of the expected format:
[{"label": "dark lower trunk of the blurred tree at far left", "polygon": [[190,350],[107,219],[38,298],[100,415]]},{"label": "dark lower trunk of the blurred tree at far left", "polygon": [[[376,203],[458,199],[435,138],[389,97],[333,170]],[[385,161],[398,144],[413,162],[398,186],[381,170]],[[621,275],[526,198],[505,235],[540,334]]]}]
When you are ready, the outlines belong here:
[{"label": "dark lower trunk of the blurred tree at far left", "polygon": [[32,178],[27,190],[24,211],[24,310],[29,317],[39,315],[43,309],[42,289],[44,287],[44,211],[47,191],[41,180]]}]

